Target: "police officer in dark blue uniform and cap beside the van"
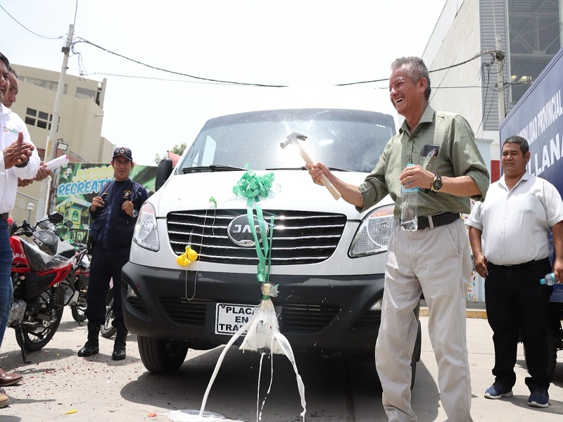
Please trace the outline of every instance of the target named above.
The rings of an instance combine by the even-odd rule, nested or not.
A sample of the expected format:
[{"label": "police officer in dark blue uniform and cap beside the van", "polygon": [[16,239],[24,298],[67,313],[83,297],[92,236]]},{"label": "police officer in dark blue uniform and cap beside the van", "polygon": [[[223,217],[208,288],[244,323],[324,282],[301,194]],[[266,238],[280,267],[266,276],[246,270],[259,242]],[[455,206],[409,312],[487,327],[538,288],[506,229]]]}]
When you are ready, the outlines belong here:
[{"label": "police officer in dark blue uniform and cap beside the van", "polygon": [[99,352],[100,326],[106,319],[106,294],[113,278],[113,326],[117,328],[113,360],[125,359],[127,328],[121,308],[121,269],[129,260],[137,214],[148,198],[146,188],[129,178],[134,166],[131,150],[115,148],[111,160],[114,179],[105,184],[90,206],[92,245],[90,280],[86,294],[88,340],[78,356]]}]

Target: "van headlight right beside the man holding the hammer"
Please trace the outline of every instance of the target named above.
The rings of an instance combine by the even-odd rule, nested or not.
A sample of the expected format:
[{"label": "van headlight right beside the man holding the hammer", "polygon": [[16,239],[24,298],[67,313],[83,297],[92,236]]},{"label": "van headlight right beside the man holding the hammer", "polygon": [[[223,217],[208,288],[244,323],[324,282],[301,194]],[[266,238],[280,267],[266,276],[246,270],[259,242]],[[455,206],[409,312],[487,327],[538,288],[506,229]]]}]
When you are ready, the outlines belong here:
[{"label": "van headlight right beside the man holding the hammer", "polygon": [[365,217],[354,236],[348,256],[350,258],[367,257],[387,252],[389,238],[395,229],[393,208],[395,205],[385,205],[374,210]]}]

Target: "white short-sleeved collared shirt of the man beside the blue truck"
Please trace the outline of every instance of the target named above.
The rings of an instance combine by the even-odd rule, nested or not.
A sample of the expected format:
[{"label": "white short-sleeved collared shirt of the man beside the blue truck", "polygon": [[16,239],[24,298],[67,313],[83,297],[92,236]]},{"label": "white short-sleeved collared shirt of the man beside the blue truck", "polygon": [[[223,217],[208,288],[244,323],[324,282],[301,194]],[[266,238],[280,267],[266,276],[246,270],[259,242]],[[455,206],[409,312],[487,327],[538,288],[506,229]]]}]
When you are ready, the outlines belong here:
[{"label": "white short-sleeved collared shirt of the man beside the blue truck", "polygon": [[504,176],[491,184],[466,224],[483,232],[481,249],[488,262],[515,265],[549,257],[550,227],[560,221],[563,201],[557,188],[526,172],[512,191]]}]

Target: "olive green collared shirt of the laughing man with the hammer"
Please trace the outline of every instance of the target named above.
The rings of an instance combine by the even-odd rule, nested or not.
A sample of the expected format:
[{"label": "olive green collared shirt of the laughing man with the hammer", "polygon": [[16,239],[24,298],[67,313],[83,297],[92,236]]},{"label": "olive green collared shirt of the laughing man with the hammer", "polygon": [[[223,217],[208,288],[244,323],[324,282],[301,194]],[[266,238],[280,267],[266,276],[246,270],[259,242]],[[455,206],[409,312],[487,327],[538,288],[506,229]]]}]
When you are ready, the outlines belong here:
[{"label": "olive green collared shirt of the laughing man with the hammer", "polygon": [[[433,157],[424,157],[425,145],[438,145],[438,153]],[[489,184],[488,170],[469,123],[461,115],[436,111],[426,106],[412,133],[405,120],[399,133],[388,141],[374,170],[360,185],[364,207],[358,210],[367,210],[389,193],[395,201],[395,217],[400,218],[399,175],[409,163],[445,177],[469,176],[481,191],[480,196],[472,198],[481,200],[485,197]],[[469,198],[419,190],[419,216],[438,212],[469,213],[470,210]]]}]

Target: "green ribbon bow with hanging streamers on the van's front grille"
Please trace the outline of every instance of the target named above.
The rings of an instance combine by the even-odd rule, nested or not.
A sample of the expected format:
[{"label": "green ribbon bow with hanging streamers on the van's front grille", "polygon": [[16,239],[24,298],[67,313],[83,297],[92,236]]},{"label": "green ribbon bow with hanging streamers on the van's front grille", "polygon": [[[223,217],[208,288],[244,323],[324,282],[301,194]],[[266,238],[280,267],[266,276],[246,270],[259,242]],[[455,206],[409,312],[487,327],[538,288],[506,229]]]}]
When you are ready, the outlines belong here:
[{"label": "green ribbon bow with hanging streamers on the van's front grille", "polygon": [[[243,196],[246,200],[246,216],[248,217],[248,226],[251,228],[252,236],[254,238],[254,245],[256,248],[256,255],[258,255],[258,265],[256,271],[256,278],[260,283],[267,283],[270,278],[270,267],[272,264],[272,233],[270,239],[266,231],[266,222],[262,214],[262,207],[258,203],[260,197],[266,198],[272,188],[272,181],[274,181],[274,173],[268,173],[264,176],[258,176],[247,165],[244,166],[247,170],[242,175],[236,186],[233,187],[233,193],[236,196]],[[262,240],[262,247],[258,241],[258,233],[254,224],[253,207],[256,209],[256,218],[258,219],[258,229],[260,230],[260,238]],[[272,231],[274,229],[274,217],[271,218]],[[267,263],[266,263],[267,260]]]}]

